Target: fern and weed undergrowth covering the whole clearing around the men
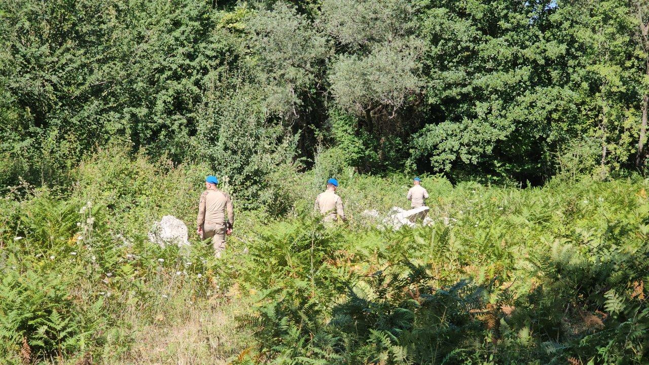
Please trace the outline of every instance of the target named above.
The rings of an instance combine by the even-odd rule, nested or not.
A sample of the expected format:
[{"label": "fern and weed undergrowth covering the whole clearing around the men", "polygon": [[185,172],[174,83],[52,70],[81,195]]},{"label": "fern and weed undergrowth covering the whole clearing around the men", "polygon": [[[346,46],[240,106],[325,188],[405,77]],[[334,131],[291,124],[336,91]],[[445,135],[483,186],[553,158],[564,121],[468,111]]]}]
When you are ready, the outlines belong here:
[{"label": "fern and weed undergrowth covering the whole clearing around the men", "polygon": [[648,359],[647,180],[427,176],[434,224],[393,231],[363,211],[405,206],[406,176],[350,172],[350,221],[325,229],[310,212],[317,176],[303,173],[289,181],[300,195],[282,195],[288,213],[238,211],[215,260],[191,229],[191,248],[146,238],[164,214],[193,227],[200,166],[139,157],[123,170],[110,156],[77,168],[67,192],[0,200],[0,363]]}]

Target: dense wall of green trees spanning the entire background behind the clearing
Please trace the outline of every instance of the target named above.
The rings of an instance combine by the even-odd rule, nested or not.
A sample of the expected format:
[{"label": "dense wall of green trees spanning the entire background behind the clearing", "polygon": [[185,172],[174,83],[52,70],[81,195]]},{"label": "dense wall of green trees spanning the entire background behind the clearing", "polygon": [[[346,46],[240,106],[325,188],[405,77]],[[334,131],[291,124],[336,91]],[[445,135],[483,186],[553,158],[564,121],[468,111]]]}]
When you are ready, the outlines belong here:
[{"label": "dense wall of green trees spanning the entire background behind the clearing", "polygon": [[332,149],[458,178],[643,170],[648,31],[640,0],[6,0],[0,183],[114,143],[252,190]]}]

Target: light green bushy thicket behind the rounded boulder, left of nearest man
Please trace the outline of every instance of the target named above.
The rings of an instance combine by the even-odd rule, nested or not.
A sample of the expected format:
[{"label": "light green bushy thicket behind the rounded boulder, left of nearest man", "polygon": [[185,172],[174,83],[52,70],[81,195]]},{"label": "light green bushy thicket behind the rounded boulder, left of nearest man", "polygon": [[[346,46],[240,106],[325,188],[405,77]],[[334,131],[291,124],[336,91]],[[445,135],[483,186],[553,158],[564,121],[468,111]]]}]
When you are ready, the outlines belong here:
[{"label": "light green bushy thicket behind the rounded boulder, left of nearest man", "polygon": [[154,221],[172,214],[193,227],[206,166],[174,166],[143,153],[130,157],[119,146],[100,150],[74,171],[72,196],[108,208],[119,233],[145,235]]}]

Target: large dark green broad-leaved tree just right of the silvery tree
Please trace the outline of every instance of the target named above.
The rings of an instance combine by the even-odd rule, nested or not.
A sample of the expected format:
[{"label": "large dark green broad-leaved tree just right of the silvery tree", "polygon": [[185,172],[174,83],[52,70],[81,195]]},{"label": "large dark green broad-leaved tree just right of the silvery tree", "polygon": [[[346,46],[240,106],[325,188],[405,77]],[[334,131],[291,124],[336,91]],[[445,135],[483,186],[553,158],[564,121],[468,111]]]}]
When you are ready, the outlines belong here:
[{"label": "large dark green broad-leaved tree just right of the silvery tree", "polygon": [[[565,46],[548,39],[550,1],[435,1],[422,16],[430,114],[411,158],[437,171],[539,179],[570,94]],[[554,71],[554,72],[553,72]]]}]

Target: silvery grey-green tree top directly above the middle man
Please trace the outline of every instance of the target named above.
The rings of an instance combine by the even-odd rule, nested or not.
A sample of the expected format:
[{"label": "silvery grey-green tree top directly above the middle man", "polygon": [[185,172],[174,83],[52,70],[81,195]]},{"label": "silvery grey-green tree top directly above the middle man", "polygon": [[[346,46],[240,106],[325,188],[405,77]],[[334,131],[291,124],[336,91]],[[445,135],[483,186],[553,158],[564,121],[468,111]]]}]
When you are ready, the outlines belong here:
[{"label": "silvery grey-green tree top directly above the middle man", "polygon": [[[390,129],[424,86],[424,44],[414,34],[416,6],[406,0],[325,0],[321,24],[338,45],[330,91],[339,107],[372,131]],[[405,122],[405,121],[404,121]]]}]

